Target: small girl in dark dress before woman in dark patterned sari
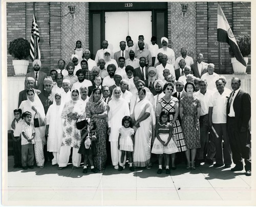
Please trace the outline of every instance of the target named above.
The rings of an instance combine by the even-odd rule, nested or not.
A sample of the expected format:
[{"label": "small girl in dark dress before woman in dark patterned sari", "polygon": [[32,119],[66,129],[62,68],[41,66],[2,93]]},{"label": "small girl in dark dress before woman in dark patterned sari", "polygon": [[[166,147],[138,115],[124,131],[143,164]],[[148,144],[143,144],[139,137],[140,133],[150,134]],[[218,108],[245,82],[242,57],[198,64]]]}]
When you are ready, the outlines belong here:
[{"label": "small girl in dark dress before woman in dark patterned sari", "polygon": [[[86,128],[86,126],[84,127]],[[83,128],[83,131],[84,131]],[[96,154],[96,122],[94,120],[91,120],[88,124],[88,128],[87,130],[85,130],[86,132],[82,134],[82,143],[81,146],[78,150],[78,153],[83,154],[84,155],[84,163],[83,163],[83,171],[82,173],[87,173],[87,163],[88,160],[90,162],[91,165],[91,171],[94,173],[98,172],[97,168],[94,168],[94,164],[93,164],[93,158],[92,156],[94,156]]]}]

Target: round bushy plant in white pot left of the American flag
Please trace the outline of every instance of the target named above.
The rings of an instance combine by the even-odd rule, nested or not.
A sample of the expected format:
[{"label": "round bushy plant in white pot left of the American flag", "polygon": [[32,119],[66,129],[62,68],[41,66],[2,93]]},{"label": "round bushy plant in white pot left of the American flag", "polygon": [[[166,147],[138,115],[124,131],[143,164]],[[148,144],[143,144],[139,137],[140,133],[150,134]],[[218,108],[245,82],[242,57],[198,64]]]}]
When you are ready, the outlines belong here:
[{"label": "round bushy plant in white pot left of the American flag", "polygon": [[15,76],[25,76],[27,74],[29,61],[26,60],[30,54],[28,40],[17,38],[10,42],[8,52],[15,60],[12,61]]}]

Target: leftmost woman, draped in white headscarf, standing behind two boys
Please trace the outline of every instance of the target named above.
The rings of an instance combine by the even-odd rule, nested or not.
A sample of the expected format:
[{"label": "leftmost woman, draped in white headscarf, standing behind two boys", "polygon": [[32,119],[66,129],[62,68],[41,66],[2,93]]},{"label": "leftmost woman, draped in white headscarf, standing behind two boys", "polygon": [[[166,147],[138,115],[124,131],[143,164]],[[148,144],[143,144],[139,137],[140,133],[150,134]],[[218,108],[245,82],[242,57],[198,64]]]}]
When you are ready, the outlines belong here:
[{"label": "leftmost woman, draped in white headscarf, standing behind two boys", "polygon": [[35,127],[35,161],[36,165],[40,168],[44,167],[45,157],[44,157],[44,145],[46,144],[45,132],[46,132],[46,120],[45,120],[45,110],[44,106],[35,94],[33,89],[27,91],[28,100],[22,101],[19,108],[22,112],[29,111],[32,114],[31,124],[34,125],[34,117],[38,118],[39,127]]}]

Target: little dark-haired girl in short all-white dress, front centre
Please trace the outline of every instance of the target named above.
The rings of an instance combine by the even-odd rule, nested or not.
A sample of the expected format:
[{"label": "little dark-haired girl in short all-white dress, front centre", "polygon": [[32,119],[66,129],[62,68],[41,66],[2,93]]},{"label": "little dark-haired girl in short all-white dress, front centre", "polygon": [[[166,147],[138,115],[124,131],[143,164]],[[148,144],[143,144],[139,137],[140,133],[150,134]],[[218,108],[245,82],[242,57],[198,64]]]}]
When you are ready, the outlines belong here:
[{"label": "little dark-haired girl in short all-white dress, front centre", "polygon": [[123,170],[123,160],[125,152],[129,158],[130,170],[134,171],[133,167],[133,146],[134,146],[134,129],[132,128],[132,118],[125,116],[122,119],[122,126],[119,128],[118,149],[121,150],[121,162],[119,163],[119,171]]}]

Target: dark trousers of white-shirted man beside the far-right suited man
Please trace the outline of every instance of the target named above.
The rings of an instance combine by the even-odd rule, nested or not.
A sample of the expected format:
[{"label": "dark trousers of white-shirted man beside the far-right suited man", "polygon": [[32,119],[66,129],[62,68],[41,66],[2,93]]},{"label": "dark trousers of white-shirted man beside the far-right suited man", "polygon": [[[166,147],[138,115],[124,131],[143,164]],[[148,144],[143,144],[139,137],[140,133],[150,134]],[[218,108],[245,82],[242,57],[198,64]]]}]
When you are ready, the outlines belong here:
[{"label": "dark trousers of white-shirted man beside the far-right suited man", "polygon": [[[219,138],[215,136],[215,147],[216,147],[216,163],[223,164],[223,156],[224,156],[224,164],[231,165],[231,148],[227,136],[227,125],[226,123],[214,123],[212,124],[219,135]],[[222,147],[222,140],[224,141],[224,149]],[[224,153],[223,153],[224,152]]]}]

